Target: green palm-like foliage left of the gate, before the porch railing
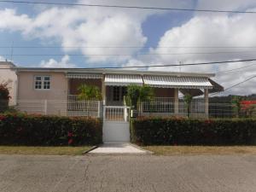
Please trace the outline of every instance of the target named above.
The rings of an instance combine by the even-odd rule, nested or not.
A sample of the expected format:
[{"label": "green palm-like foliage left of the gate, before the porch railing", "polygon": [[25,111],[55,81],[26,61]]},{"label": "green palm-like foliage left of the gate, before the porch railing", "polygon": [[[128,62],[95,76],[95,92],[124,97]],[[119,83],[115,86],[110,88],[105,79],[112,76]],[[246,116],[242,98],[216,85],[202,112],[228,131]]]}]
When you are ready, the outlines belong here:
[{"label": "green palm-like foliage left of the gate, before the porch railing", "polygon": [[81,84],[78,90],[80,100],[102,100],[101,90],[97,86]]}]

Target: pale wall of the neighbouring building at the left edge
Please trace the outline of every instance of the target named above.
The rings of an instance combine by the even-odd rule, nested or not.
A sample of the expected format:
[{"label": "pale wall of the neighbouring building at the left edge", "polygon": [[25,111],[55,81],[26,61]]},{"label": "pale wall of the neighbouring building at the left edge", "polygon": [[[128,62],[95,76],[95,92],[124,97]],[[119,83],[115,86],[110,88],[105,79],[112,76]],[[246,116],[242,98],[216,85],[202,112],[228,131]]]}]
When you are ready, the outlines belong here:
[{"label": "pale wall of the neighbouring building at the left edge", "polygon": [[10,106],[16,104],[17,94],[17,75],[14,70],[11,70],[12,67],[15,67],[12,62],[0,61],[0,68],[2,68],[0,69],[0,84],[5,82],[9,83],[9,95],[11,96],[11,99],[9,101]]}]

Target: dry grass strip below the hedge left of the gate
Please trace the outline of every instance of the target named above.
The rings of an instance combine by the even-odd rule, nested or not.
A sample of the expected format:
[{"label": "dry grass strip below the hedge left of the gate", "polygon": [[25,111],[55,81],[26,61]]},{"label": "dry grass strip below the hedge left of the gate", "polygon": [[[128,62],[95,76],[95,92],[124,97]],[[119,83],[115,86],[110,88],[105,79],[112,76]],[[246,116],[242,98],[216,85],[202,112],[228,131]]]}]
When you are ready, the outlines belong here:
[{"label": "dry grass strip below the hedge left of the gate", "polygon": [[83,147],[26,147],[0,146],[0,154],[48,154],[48,155],[82,155],[91,146]]}]

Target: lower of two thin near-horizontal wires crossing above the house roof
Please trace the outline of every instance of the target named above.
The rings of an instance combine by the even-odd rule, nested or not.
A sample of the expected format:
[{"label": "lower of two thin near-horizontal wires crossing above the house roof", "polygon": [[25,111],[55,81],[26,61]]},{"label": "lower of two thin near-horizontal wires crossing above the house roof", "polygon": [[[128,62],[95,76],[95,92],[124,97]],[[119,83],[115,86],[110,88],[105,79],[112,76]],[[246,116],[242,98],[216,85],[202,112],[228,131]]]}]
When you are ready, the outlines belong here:
[{"label": "lower of two thin near-horizontal wires crossing above the house roof", "polygon": [[[134,55],[214,55],[234,53],[255,53],[254,51],[218,51],[218,52],[184,52],[184,53],[138,53]],[[9,55],[9,54],[0,54]],[[13,54],[13,56],[131,56],[132,54]]]}]

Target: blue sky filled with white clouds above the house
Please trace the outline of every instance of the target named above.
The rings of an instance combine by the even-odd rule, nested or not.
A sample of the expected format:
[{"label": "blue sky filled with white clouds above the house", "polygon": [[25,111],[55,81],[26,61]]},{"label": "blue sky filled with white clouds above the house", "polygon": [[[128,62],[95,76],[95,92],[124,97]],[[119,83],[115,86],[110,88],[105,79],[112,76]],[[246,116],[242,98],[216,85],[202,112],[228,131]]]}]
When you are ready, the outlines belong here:
[{"label": "blue sky filled with white clouds above the house", "polygon": [[[80,0],[75,3],[256,11],[255,0]],[[20,67],[137,67],[254,59],[255,16],[0,3],[0,60],[13,61]],[[228,88],[255,76],[256,61],[145,70],[216,73],[213,79]],[[255,83],[256,78],[218,95],[256,93]]]}]

